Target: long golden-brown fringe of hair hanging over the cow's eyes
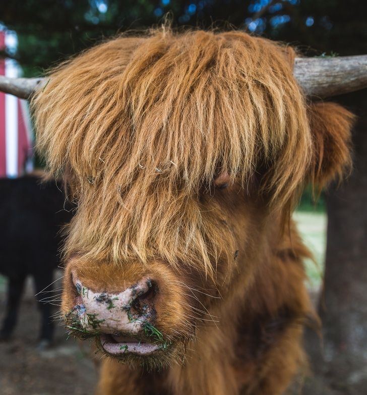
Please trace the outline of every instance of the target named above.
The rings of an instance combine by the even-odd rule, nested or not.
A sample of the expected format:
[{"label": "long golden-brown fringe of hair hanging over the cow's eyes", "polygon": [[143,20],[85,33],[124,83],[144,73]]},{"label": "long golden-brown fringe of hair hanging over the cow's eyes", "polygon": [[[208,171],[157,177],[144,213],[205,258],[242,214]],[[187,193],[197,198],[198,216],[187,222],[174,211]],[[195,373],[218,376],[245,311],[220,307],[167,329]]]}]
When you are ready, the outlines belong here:
[{"label": "long golden-brown fringe of hair hanging over the cow's eyes", "polygon": [[243,32],[165,28],[52,70],[32,107],[38,149],[79,201],[67,251],[212,271],[231,241],[203,215],[203,186],[225,170],[246,188],[262,167],[259,194],[284,207],[310,165],[293,57]]}]

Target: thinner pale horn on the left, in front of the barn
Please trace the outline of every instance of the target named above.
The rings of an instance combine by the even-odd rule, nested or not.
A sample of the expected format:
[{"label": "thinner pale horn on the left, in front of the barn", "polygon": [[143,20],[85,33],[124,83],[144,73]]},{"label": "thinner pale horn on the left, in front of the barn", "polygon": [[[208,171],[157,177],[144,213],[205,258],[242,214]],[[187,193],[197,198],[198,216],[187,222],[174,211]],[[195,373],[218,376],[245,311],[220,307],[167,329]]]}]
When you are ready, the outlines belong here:
[{"label": "thinner pale horn on the left, in front of the barn", "polygon": [[44,86],[45,78],[9,78],[0,76],[0,91],[30,99],[32,95]]}]

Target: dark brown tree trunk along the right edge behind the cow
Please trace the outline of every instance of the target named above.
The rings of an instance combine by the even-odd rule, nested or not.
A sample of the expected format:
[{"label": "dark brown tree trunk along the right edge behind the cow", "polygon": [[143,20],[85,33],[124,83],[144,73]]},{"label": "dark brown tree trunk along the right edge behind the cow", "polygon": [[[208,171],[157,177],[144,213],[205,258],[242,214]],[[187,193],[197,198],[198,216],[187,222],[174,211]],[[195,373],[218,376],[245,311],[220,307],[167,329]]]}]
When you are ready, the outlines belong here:
[{"label": "dark brown tree trunk along the right edge behind the cow", "polygon": [[[319,305],[323,336],[306,337],[315,374],[305,386],[310,395],[367,391],[367,91],[343,97],[342,104],[358,116],[353,172],[326,199],[327,250]],[[320,383],[324,389],[318,391]]]}]

